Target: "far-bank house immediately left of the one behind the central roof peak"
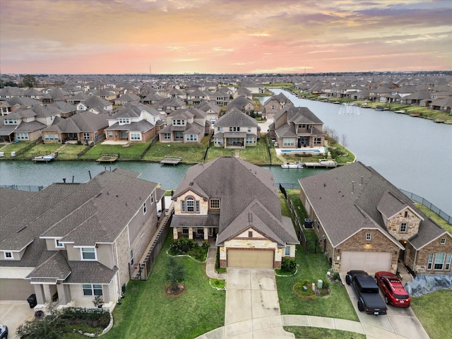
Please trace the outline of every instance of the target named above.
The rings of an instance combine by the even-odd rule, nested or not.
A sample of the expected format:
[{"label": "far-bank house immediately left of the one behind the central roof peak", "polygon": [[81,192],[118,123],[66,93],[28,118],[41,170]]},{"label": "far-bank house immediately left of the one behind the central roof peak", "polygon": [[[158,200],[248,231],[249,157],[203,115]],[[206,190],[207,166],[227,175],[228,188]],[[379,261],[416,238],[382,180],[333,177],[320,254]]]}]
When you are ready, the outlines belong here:
[{"label": "far-bank house immediately left of the one behind the central roof peak", "polygon": [[206,116],[195,107],[175,110],[167,116],[167,126],[159,131],[160,143],[201,143],[210,131]]}]

